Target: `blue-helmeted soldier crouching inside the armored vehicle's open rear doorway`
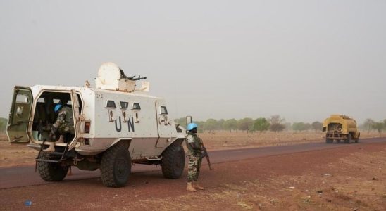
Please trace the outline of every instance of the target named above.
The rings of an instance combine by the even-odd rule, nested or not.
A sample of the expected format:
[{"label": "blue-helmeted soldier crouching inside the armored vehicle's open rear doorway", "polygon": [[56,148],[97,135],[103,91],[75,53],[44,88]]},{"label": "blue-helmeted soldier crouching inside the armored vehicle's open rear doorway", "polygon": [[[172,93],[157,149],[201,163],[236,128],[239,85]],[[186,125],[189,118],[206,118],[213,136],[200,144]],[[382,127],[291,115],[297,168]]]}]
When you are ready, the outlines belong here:
[{"label": "blue-helmeted soldier crouching inside the armored vehicle's open rear doorway", "polygon": [[[56,122],[52,124],[51,132],[49,133],[49,139],[51,141],[56,140],[56,132],[60,134],[58,141],[56,143],[64,142],[64,135],[67,133],[74,134],[74,120],[73,120],[73,109],[61,104],[57,104],[54,107],[55,113],[58,113]],[[44,151],[55,151],[54,142],[52,142],[49,148],[46,148]]]}]

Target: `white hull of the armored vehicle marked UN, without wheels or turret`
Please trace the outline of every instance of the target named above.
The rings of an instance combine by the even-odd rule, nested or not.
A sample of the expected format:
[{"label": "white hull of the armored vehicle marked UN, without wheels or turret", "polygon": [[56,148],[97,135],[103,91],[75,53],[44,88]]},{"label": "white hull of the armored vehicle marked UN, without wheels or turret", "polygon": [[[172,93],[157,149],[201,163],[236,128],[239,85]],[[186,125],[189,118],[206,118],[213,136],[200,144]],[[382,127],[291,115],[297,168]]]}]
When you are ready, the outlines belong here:
[{"label": "white hull of the armored vehicle marked UN, without wheels or turret", "polygon": [[[178,133],[170,115],[162,114],[161,106],[166,107],[163,98],[142,92],[130,93],[88,87],[36,85],[31,87],[31,90],[34,103],[30,121],[34,118],[33,111],[37,99],[44,91],[70,93],[73,90],[80,95],[82,110],[77,120],[80,129],[75,132],[76,138],[70,145],[81,155],[97,155],[124,139],[130,140],[129,151],[133,160],[156,157],[161,155],[170,143],[186,137],[185,129]],[[113,101],[115,108],[108,108],[108,101]],[[120,102],[128,103],[128,108],[122,108]],[[134,103],[139,103],[140,110],[132,109]],[[89,133],[85,133],[85,122],[90,122]],[[43,141],[35,140],[32,136],[32,123],[28,127],[28,134],[31,146],[42,144]],[[66,146],[65,143],[57,145]]]}]

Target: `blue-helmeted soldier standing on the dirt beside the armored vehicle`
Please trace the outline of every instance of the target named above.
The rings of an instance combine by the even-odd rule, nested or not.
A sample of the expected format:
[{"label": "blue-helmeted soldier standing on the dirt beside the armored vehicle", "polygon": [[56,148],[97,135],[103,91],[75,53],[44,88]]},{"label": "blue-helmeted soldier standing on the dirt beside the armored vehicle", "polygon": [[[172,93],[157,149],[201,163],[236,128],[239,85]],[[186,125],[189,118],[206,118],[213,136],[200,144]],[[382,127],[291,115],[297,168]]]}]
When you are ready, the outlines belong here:
[{"label": "blue-helmeted soldier standing on the dirt beside the armored vehicle", "polygon": [[199,186],[197,180],[199,179],[200,167],[201,167],[201,155],[204,151],[202,140],[197,136],[197,124],[187,124],[187,155],[189,156],[189,165],[187,172],[187,191],[204,190]]}]

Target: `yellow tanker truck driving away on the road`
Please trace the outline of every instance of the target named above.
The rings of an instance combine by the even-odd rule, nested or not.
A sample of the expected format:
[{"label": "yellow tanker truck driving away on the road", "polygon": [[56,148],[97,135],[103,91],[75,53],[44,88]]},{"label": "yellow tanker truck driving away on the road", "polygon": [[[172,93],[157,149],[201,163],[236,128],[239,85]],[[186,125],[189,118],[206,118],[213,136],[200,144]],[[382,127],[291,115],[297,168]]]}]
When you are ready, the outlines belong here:
[{"label": "yellow tanker truck driving away on the road", "polygon": [[331,115],[323,122],[323,132],[325,133],[325,143],[333,143],[336,140],[340,143],[358,143],[361,133],[356,127],[356,121],[345,115]]}]

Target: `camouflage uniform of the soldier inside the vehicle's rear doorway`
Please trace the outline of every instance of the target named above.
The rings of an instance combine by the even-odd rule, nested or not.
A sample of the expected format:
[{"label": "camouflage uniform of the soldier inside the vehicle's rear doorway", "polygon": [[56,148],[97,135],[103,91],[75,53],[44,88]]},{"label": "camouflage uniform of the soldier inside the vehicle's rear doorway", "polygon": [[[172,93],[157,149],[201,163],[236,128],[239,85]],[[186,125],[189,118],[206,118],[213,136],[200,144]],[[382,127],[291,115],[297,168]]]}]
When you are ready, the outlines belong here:
[{"label": "camouflage uniform of the soldier inside the vehicle's rear doorway", "polygon": [[66,133],[75,133],[72,108],[63,106],[59,110],[58,118],[56,118],[56,122],[52,124],[51,132],[49,133],[51,139],[56,136],[56,132],[59,132],[59,134],[61,135],[64,135]]}]

